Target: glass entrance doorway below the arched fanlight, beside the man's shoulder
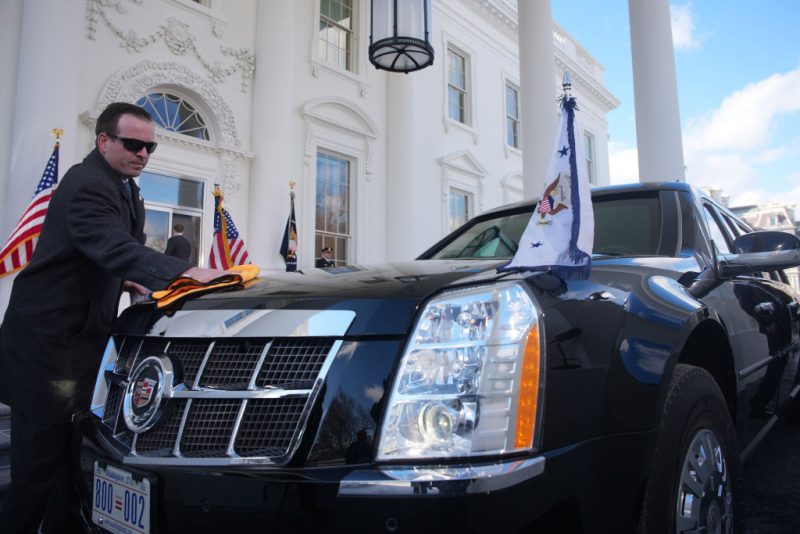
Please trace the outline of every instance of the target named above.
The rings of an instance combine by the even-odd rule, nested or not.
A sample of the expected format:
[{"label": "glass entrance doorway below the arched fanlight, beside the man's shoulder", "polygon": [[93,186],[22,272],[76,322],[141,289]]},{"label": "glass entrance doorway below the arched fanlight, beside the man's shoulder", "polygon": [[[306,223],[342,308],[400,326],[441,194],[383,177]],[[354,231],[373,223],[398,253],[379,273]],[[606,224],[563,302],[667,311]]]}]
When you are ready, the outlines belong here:
[{"label": "glass entrance doorway below the arched fanlight, beside the man's shoulder", "polygon": [[164,252],[172,227],[183,226],[183,237],[192,244],[189,261],[199,265],[203,242],[203,182],[143,172],[138,178],[145,200],[145,245]]}]

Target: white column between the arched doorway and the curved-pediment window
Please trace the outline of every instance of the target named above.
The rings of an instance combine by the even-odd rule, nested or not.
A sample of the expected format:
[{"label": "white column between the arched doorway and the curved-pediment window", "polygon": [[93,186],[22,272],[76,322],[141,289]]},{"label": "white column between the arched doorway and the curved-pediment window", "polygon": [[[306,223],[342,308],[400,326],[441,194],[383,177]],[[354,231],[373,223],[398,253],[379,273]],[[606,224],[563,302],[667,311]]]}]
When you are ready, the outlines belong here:
[{"label": "white column between the arched doorway and the curved-pediment window", "polygon": [[[295,2],[260,0],[256,20],[256,74],[253,83],[253,153],[245,244],[251,261],[262,267],[282,268],[279,255],[289,215],[289,180],[298,182],[295,210],[302,188],[291,175],[289,150],[292,132],[292,71],[295,61]],[[298,224],[302,217],[297,213]],[[313,232],[303,237],[313,238]],[[301,262],[307,259],[300,256]]]}]

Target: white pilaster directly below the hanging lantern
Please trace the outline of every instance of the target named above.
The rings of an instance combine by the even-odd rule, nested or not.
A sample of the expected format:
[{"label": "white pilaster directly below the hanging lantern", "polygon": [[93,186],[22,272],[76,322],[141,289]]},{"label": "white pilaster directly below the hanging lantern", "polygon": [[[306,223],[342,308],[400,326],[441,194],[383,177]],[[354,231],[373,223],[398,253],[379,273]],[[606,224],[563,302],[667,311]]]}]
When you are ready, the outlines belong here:
[{"label": "white pilaster directly below the hanging lantern", "polygon": [[[422,199],[418,195],[425,194],[425,191],[438,194],[439,188],[425,187],[417,167],[419,131],[416,110],[419,103],[416,102],[416,81],[419,75],[412,72],[386,76],[387,254],[389,261],[408,260],[422,252],[418,243],[424,231],[422,219],[425,217],[419,213]],[[437,232],[438,228],[434,235]]]}]

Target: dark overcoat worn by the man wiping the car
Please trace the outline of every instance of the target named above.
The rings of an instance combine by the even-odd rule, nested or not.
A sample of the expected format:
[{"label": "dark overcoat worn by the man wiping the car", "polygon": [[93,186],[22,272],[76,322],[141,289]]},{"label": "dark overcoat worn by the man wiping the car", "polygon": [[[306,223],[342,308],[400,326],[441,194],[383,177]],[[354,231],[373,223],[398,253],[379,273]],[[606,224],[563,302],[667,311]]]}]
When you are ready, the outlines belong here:
[{"label": "dark overcoat worn by the man wiping the car", "polygon": [[41,423],[87,409],[122,280],[153,290],[191,267],[144,243],[144,202],[95,149],[50,201],[0,329],[0,400]]}]

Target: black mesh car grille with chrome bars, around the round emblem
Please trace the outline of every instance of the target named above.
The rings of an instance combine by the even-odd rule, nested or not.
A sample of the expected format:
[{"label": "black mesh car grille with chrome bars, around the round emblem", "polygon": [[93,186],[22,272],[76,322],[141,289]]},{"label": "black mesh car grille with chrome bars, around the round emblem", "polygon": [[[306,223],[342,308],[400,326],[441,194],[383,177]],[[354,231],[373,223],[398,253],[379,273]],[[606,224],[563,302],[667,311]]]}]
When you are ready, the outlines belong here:
[{"label": "black mesh car grille with chrome bars, around the round emblem", "polygon": [[[299,443],[334,338],[117,339],[102,421],[130,463],[284,463]],[[144,358],[166,354],[182,375],[162,419],[133,434],[122,416],[128,375]]]}]

